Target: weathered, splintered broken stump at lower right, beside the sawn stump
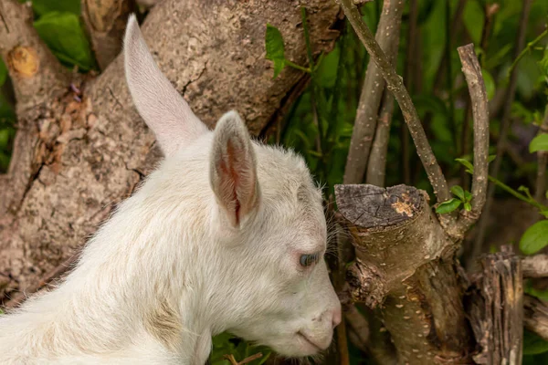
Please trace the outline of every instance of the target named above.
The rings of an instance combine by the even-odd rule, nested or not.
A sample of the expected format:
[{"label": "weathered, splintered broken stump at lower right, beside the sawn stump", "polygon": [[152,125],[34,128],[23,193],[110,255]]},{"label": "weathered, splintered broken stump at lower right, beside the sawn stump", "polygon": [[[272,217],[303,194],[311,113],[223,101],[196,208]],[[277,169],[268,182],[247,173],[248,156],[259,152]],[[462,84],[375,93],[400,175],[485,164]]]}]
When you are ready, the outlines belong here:
[{"label": "weathered, splintered broken stump at lower right, beside the sawn stump", "polygon": [[522,363],[522,261],[511,249],[481,259],[469,290],[470,324],[478,343],[478,364]]}]

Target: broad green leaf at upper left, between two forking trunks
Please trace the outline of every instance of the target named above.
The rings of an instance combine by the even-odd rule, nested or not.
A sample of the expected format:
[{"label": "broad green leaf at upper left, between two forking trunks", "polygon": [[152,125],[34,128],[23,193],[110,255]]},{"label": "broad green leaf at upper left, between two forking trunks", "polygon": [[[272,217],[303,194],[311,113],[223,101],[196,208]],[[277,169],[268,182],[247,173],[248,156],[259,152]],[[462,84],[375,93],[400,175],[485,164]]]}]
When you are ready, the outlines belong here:
[{"label": "broad green leaf at upper left, between two forking trunks", "polygon": [[38,35],[52,52],[68,66],[89,70],[95,66],[90,43],[79,23],[71,13],[50,12],[35,23]]}]

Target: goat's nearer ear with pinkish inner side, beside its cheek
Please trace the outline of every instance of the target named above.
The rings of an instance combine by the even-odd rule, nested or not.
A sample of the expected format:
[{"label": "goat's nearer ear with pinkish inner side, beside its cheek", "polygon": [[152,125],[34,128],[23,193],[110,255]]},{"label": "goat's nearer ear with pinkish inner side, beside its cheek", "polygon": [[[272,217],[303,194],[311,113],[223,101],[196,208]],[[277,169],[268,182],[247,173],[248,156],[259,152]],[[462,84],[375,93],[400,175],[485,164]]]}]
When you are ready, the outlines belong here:
[{"label": "goat's nearer ear with pinkish inner side, beside its cheek", "polygon": [[236,111],[227,112],[217,122],[213,143],[211,187],[229,222],[238,227],[255,212],[259,190],[253,144]]}]

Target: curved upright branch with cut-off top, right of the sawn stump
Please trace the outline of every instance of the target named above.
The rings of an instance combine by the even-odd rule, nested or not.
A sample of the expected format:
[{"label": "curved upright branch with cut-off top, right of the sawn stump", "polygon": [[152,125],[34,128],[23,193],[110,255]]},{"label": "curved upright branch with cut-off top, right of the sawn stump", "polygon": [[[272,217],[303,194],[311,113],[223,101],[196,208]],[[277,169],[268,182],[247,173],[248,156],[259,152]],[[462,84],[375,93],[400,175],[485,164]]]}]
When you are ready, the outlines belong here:
[{"label": "curved upright branch with cut-off top, right of the sawn stump", "polygon": [[481,214],[487,196],[489,173],[489,104],[487,90],[481,76],[481,67],[474,45],[458,47],[462,72],[469,86],[474,120],[474,174],[472,177],[472,210],[463,211],[458,228],[463,235]]}]

